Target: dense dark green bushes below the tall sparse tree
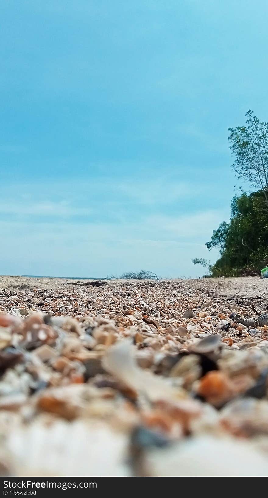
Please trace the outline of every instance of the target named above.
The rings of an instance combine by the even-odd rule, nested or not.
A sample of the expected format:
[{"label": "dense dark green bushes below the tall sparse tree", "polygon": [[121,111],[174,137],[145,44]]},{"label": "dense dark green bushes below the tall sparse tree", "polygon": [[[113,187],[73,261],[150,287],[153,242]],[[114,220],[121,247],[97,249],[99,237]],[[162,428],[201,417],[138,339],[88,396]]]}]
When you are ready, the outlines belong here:
[{"label": "dense dark green bushes below the tall sparse tree", "polygon": [[259,274],[268,264],[268,216],[263,190],[235,196],[231,220],[221,223],[206,244],[220,249],[220,258],[211,266],[212,276]]}]

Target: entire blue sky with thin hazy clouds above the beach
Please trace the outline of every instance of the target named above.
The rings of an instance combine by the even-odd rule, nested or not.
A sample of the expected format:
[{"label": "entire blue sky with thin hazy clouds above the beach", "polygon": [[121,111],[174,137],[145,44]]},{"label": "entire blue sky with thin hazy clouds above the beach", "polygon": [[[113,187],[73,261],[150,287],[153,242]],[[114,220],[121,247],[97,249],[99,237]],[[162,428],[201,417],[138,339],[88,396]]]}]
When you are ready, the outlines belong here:
[{"label": "entire blue sky with thin hazy clouds above the beach", "polygon": [[268,121],[266,0],[2,0],[0,274],[199,276],[228,126]]}]

